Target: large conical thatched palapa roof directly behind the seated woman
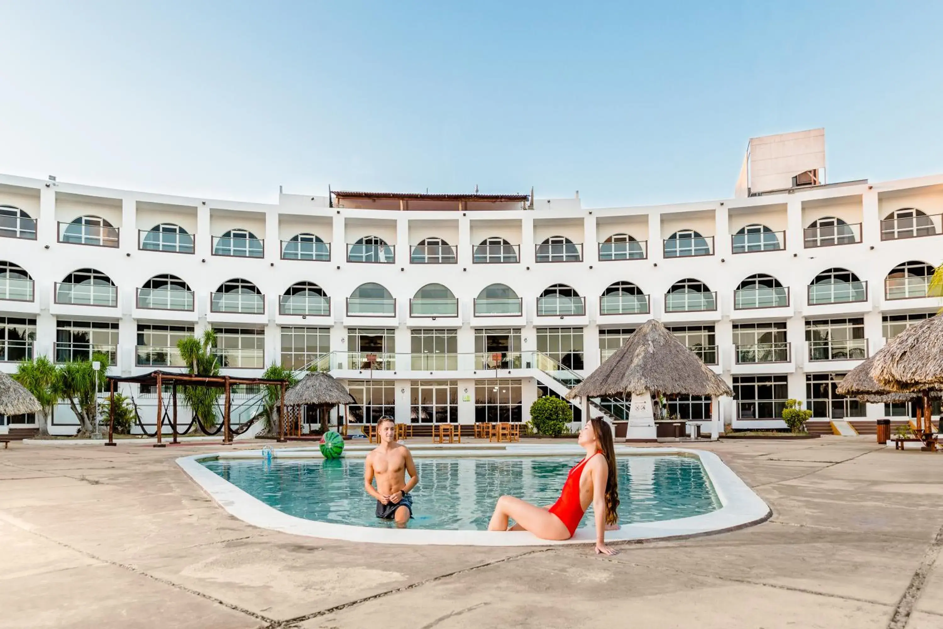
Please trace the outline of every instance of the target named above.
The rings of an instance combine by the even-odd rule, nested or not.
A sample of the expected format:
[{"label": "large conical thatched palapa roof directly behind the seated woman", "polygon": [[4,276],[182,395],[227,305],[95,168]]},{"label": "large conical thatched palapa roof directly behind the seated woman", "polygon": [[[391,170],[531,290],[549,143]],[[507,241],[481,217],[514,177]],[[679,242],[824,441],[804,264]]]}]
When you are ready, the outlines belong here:
[{"label": "large conical thatched palapa roof directly behind the seated woman", "polygon": [[639,327],[587,379],[567,394],[620,395],[657,391],[662,395],[733,395],[720,376],[676,339],[664,325],[649,320]]}]

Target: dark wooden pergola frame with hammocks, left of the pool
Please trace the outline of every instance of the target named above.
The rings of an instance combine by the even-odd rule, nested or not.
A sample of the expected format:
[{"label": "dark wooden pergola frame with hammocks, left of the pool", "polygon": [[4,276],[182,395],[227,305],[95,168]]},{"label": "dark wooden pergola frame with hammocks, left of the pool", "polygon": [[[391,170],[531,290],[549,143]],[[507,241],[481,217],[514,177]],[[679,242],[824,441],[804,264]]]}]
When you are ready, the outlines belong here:
[{"label": "dark wooden pergola frame with hammocks, left of the pool", "polygon": [[190,373],[174,373],[174,372],[161,372],[155,371],[150,373],[141,373],[141,375],[130,375],[130,376],[108,376],[108,386],[109,386],[109,407],[111,412],[108,417],[108,442],[105,445],[115,445],[114,442],[114,396],[115,396],[115,383],[128,383],[136,385],[145,385],[151,387],[157,387],[157,443],[154,444],[155,448],[164,448],[166,443],[163,442],[161,438],[161,431],[163,429],[163,395],[161,395],[161,388],[164,385],[172,385],[173,390],[171,392],[171,404],[173,405],[173,416],[171,418],[171,429],[174,433],[174,440],[172,443],[177,442],[177,385],[182,384],[189,387],[209,387],[212,389],[223,389],[223,445],[229,445],[233,442],[233,431],[229,423],[229,415],[231,411],[231,391],[233,385],[263,385],[266,387],[280,387],[282,389],[281,401],[279,403],[279,413],[278,413],[278,441],[287,441],[285,438],[285,390],[288,389],[289,382],[288,380],[269,380],[266,378],[240,378],[232,375],[192,375]]}]

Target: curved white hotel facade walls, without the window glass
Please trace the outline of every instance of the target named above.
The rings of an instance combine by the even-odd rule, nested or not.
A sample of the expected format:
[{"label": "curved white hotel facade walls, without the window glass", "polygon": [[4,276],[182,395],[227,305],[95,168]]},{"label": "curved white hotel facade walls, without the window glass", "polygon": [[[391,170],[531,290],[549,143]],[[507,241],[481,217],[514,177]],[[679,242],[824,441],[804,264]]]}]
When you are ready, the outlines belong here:
[{"label": "curved white hotel facade walls, without the window glass", "polygon": [[[422,399],[425,394],[418,391],[418,383],[422,380],[447,383],[430,385],[429,391],[438,387],[437,391],[441,393],[426,393],[430,399],[446,395],[445,406],[452,408],[443,412],[457,412],[458,422],[471,423],[475,418],[476,396],[484,395],[486,387],[491,390],[498,387],[496,394],[500,395],[504,383],[509,381],[507,386],[516,388],[520,381],[520,406],[525,417],[527,406],[538,396],[538,385],[557,393],[565,392],[566,388],[561,389],[561,384],[548,375],[548,372],[554,372],[554,368],[548,368],[550,363],[536,354],[538,350],[554,354],[561,332],[548,332],[547,328],[578,328],[562,334],[567,337],[565,343],[573,342],[576,336],[582,337],[582,369],[576,371],[587,373],[600,364],[601,331],[605,335],[605,331],[612,328],[631,329],[654,317],[675,327],[702,326],[704,329],[686,338],[692,343],[716,346],[716,354],[708,348],[701,350],[702,356],[707,361],[716,362],[715,371],[736,385],[740,393],[743,387],[756,384],[750,380],[752,376],[777,376],[758,383],[761,388],[775,387],[776,391],[754,391],[757,399],[753,406],[750,406],[751,400],[741,394],[737,402],[721,400],[715,407],[724,422],[733,422],[735,427],[750,427],[781,425],[772,419],[775,410],[767,410],[770,407],[767,403],[779,405],[784,384],[787,397],[805,400],[809,406],[813,402],[810,398],[815,398],[819,402],[815,406],[818,418],[884,416],[885,407],[882,405],[852,408],[831,394],[822,393],[822,387],[828,386],[828,376],[816,379],[809,375],[848,372],[858,364],[860,357],[869,356],[883,346],[885,317],[923,316],[935,312],[940,305],[939,299],[920,296],[919,279],[892,281],[889,288],[885,280],[895,267],[908,261],[927,265],[938,265],[943,261],[943,237],[940,236],[943,234],[943,223],[940,222],[943,215],[943,175],[874,184],[852,182],[813,186],[758,196],[657,207],[587,208],[582,207],[578,198],[494,204],[414,200],[401,206],[400,201],[370,200],[368,196],[365,193],[364,198],[357,199],[280,193],[277,204],[267,205],[108,190],[0,175],[0,206],[8,209],[5,217],[0,217],[6,221],[0,225],[0,234],[5,236],[0,238],[0,262],[22,267],[32,280],[28,294],[22,292],[28,286],[22,282],[8,282],[0,287],[0,318],[6,318],[7,322],[35,321],[25,323],[26,327],[34,326],[30,329],[35,340],[29,343],[31,347],[28,350],[34,356],[58,354],[61,357],[68,342],[81,339],[75,332],[74,323],[107,324],[113,328],[108,330],[108,335],[111,335],[108,339],[117,339],[116,372],[122,374],[151,371],[159,367],[162,360],[158,357],[157,365],[140,364],[139,332],[146,329],[141,326],[191,326],[197,332],[209,325],[255,330],[255,339],[237,340],[243,347],[262,348],[264,358],[258,356],[257,349],[242,350],[233,354],[233,363],[241,362],[253,367],[228,371],[246,375],[259,374],[263,365],[283,359],[286,328],[324,328],[322,344],[318,347],[335,354],[322,357],[323,363],[329,364],[337,377],[347,381],[372,380],[373,384],[367,387],[374,389],[379,386],[377,383],[386,383],[386,389],[379,393],[374,390],[371,395],[382,397],[391,394],[394,399],[390,402],[388,397],[383,402],[394,407],[400,421],[408,422],[415,414],[417,395]],[[418,206],[422,209],[417,209]],[[10,210],[13,207],[25,212],[29,218],[13,221]],[[905,217],[889,223],[885,221],[893,217],[895,211],[904,208],[918,208],[925,214],[926,218],[919,219],[919,228],[908,226],[913,223],[908,223]],[[105,219],[114,230],[69,227],[83,216]],[[835,218],[845,224],[837,232],[834,227],[829,228],[832,223],[828,221],[817,223],[820,219]],[[35,221],[35,239],[31,237],[29,221]],[[14,223],[16,228],[11,226]],[[146,236],[142,234],[162,223],[183,227],[192,237],[193,253],[142,250],[141,239]],[[765,237],[766,240],[760,237],[751,241],[765,241],[768,246],[775,242],[779,248],[735,253],[742,240],[735,240],[734,235],[753,224],[766,225],[773,235]],[[810,225],[816,224],[820,226],[814,231],[808,230]],[[67,231],[70,229],[71,232]],[[214,255],[217,239],[240,229],[251,232],[264,244],[261,251],[253,249],[256,245],[243,246],[241,242],[234,246],[243,253],[258,252],[260,257]],[[682,240],[680,247],[666,244],[672,234],[684,230],[696,231],[703,240]],[[70,233],[81,236],[70,237]],[[289,241],[300,233],[312,234],[323,240],[329,247],[330,259],[283,259],[282,241]],[[640,247],[645,250],[645,257],[600,259],[600,243],[615,234],[627,234],[643,242],[642,245],[633,245],[633,251]],[[537,245],[560,236],[578,246],[563,247],[559,251],[579,251],[580,260],[538,261]],[[383,259],[383,263],[348,260],[350,246],[366,237],[382,239],[389,245],[389,249],[382,252],[373,250],[376,252],[374,259]],[[62,241],[70,238],[92,240],[93,243]],[[430,238],[441,239],[455,247],[455,263],[415,263],[417,260],[411,259],[411,254],[417,253],[417,245],[428,242]],[[519,261],[475,263],[474,247],[488,238],[502,238],[514,245]],[[103,244],[113,246],[100,246]],[[832,246],[810,246],[820,244]],[[318,251],[323,252],[326,247],[319,245]],[[709,255],[666,257],[666,251],[670,253],[674,249],[680,249],[682,253],[706,253],[698,251],[704,247]],[[361,248],[354,254],[359,257],[373,255],[365,256],[364,251]],[[442,261],[442,249],[423,251],[435,253],[438,256],[436,261]],[[451,262],[451,254],[444,251],[447,252],[445,261]],[[84,269],[96,270],[110,278],[117,288],[113,305],[108,302],[108,290],[99,291],[106,294],[104,298],[96,293],[95,301],[104,305],[91,306],[83,303],[87,301],[87,290],[58,286],[58,283],[67,281],[70,273]],[[820,273],[830,269],[847,270],[862,284],[838,287],[837,290],[819,287],[810,293],[810,284]],[[735,291],[744,279],[757,273],[778,280],[787,289],[787,303],[780,302],[782,305],[774,307],[736,307],[738,303],[740,306],[750,305],[755,293],[740,293],[739,302],[736,302]],[[192,309],[140,307],[139,289],[149,279],[161,274],[172,274],[187,284],[192,291]],[[22,275],[13,273],[7,276],[15,279]],[[835,277],[842,280],[838,275]],[[241,302],[233,298],[227,303],[238,303],[250,310],[256,307],[254,304],[264,304],[264,311],[212,311],[210,293],[232,279],[248,280],[264,295],[264,299],[250,296]],[[710,292],[716,293],[716,308],[668,311],[670,307],[666,306],[670,303],[710,306],[709,297],[695,296],[693,302],[691,299],[666,297],[672,286],[685,279],[698,280]],[[81,285],[81,280],[79,277],[76,283]],[[3,281],[2,276],[0,281]],[[280,311],[280,295],[299,282],[312,282],[323,290],[330,298],[328,313],[319,314],[315,309],[314,314],[302,318]],[[648,295],[650,312],[603,314],[600,297],[607,287],[618,282],[631,282]],[[382,304],[394,308],[392,316],[356,316],[357,305],[350,306],[347,298],[364,283],[375,283],[389,291],[395,299],[395,306],[387,302]],[[457,316],[444,315],[435,319],[411,316],[410,299],[430,283],[451,290],[457,299]],[[493,284],[504,284],[520,297],[521,315],[476,314],[475,299]],[[571,287],[583,299],[564,299],[564,309],[559,311],[565,312],[565,316],[540,314],[538,297],[548,287],[557,284]],[[782,299],[783,294],[781,290],[763,291],[759,297],[766,300],[778,296]],[[829,295],[837,303],[827,303],[832,299]],[[900,296],[907,298],[888,298]],[[76,303],[62,303],[69,301]],[[823,303],[812,303],[815,301]],[[189,306],[186,298],[182,303]],[[365,303],[371,306],[361,305],[361,311],[375,306],[369,300]],[[550,300],[550,311],[558,311],[554,308],[560,307],[559,303],[559,300]],[[585,304],[582,313],[579,313],[580,303]],[[499,303],[499,307],[507,308],[507,305]],[[414,307],[422,309],[419,306]],[[571,310],[567,309],[570,307],[576,314],[570,314]],[[510,309],[513,310],[513,306]],[[826,320],[833,323],[826,327],[816,324],[819,331],[811,331],[809,322]],[[852,320],[852,323],[835,323],[838,320]],[[71,332],[67,329],[69,323],[63,326],[64,322],[74,322],[73,328],[69,328]],[[763,337],[766,340],[759,343],[760,347],[753,348],[753,354],[745,347],[738,351],[735,343],[741,346],[752,344],[745,340],[751,338],[747,326],[754,323],[761,324],[761,327],[775,324],[775,331],[769,333],[771,336]],[[16,337],[16,332],[9,332],[16,323],[5,324],[7,337],[0,339],[0,343],[5,343],[7,354],[0,357],[7,357],[8,361],[0,362],[0,369],[13,372],[16,368],[13,360],[21,356],[17,343],[9,340]],[[860,333],[856,331],[859,327]],[[382,336],[386,345],[376,345],[373,338],[364,341],[366,345],[351,348],[351,342],[361,342],[359,337],[352,336],[351,330],[355,328],[389,330],[380,335],[364,334]],[[501,353],[494,349],[502,346],[504,341],[500,339],[494,341],[498,345],[491,339],[484,345],[479,340],[476,346],[476,330],[484,328],[515,330],[510,333],[514,339],[509,341],[511,344],[506,350],[513,356],[495,356]],[[830,330],[831,340],[823,343],[821,330],[826,328]],[[436,354],[434,349],[414,352],[414,347],[423,347],[422,341],[414,345],[413,337],[418,329],[454,330],[454,336],[449,332],[446,335],[449,340],[439,345],[446,348],[439,353],[449,356],[429,358],[429,354]],[[764,330],[769,332],[762,328],[760,334]],[[813,348],[810,348],[807,334],[813,335]],[[845,334],[852,340],[841,342],[840,338]],[[478,335],[482,339],[480,332]],[[429,336],[435,334],[429,333]],[[71,340],[64,340],[67,337]],[[854,337],[863,337],[863,340]],[[100,335],[99,338],[104,337]],[[329,342],[329,348],[324,347],[325,342]],[[431,344],[427,347],[436,346],[435,342],[429,342]],[[771,342],[775,346],[767,347]],[[783,345],[784,342],[787,345]],[[79,345],[81,343],[75,343],[74,352],[87,352],[87,348]],[[371,349],[373,347],[380,349]],[[360,354],[351,356],[349,353],[352,351]],[[146,348],[143,352],[149,356]],[[563,350],[555,357],[578,368],[579,359],[564,356],[575,353]],[[761,362],[755,360],[759,354],[763,355],[760,356],[763,358]],[[297,361],[304,362],[309,357],[290,356],[287,362],[299,366],[301,363]],[[154,362],[153,359],[143,362],[148,361]],[[369,369],[371,364],[373,370]],[[483,384],[485,381],[488,381],[487,385]],[[812,389],[819,392],[810,394]],[[512,394],[518,395],[517,392]],[[743,406],[745,399],[747,406]],[[514,402],[519,402],[517,397]],[[438,402],[432,404],[442,406]],[[500,400],[498,406],[501,406]],[[838,410],[839,406],[841,410]],[[709,410],[709,402],[706,407]],[[680,411],[683,415],[690,412],[690,408],[686,408]],[[697,412],[702,412],[703,408],[700,406]],[[826,410],[823,412],[822,409]],[[418,415],[425,417],[424,412],[420,411]],[[697,415],[696,418],[700,419]],[[59,419],[56,423],[65,426],[68,421]],[[0,430],[7,428],[0,426]],[[70,429],[61,427],[57,430],[69,432]]]}]

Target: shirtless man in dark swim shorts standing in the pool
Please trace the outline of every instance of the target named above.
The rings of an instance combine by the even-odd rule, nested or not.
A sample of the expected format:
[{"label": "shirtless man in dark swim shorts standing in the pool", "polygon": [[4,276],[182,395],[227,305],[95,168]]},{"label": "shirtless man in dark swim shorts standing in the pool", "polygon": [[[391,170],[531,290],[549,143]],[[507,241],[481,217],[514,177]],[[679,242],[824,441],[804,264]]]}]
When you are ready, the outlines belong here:
[{"label": "shirtless man in dark swim shorts standing in the pool", "polygon": [[[409,490],[419,483],[416,464],[409,449],[396,441],[396,422],[391,417],[381,417],[376,424],[376,435],[380,445],[367,455],[363,465],[363,488],[376,498],[376,517],[395,520],[405,527],[412,517],[412,496]],[[409,472],[409,482],[406,474]],[[373,488],[373,478],[376,488]]]}]

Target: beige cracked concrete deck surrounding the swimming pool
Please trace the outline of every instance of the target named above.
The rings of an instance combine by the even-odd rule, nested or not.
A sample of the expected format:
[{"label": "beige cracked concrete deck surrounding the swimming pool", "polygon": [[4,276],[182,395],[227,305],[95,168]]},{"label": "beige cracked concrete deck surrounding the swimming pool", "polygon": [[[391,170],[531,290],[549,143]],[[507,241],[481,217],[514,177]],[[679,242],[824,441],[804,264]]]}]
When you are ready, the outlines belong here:
[{"label": "beige cracked concrete deck surrounding the swimming pool", "polygon": [[219,445],[13,443],[0,627],[943,627],[943,455],[872,439],[698,444],[769,521],[605,558],[292,536],[233,518],[175,463]]}]

